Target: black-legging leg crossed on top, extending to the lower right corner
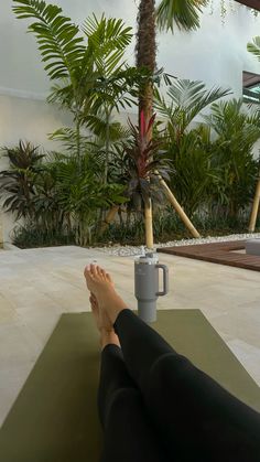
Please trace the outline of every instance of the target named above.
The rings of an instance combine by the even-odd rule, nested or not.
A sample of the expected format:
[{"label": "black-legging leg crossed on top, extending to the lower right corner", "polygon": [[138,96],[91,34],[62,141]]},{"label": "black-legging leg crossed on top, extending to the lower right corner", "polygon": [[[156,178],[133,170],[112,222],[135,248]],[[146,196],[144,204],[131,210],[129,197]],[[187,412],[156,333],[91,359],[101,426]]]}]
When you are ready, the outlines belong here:
[{"label": "black-legging leg crossed on top, extending to the lower right corner", "polygon": [[172,456],[259,462],[260,415],[178,355],[130,310],[115,330],[129,374]]}]

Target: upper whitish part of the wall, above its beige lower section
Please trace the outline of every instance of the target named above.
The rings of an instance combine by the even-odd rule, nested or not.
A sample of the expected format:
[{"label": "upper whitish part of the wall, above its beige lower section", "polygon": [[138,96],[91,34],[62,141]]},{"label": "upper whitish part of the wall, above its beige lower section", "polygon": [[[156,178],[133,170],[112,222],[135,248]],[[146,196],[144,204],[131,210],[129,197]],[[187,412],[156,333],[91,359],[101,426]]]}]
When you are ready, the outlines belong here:
[{"label": "upper whitish part of the wall, above its beige lower section", "polygon": [[[65,14],[76,23],[95,12],[100,15],[122,18],[136,28],[137,4],[134,0],[51,0],[59,4]],[[159,0],[160,1],[160,0]],[[229,0],[226,0],[228,3]],[[137,1],[138,3],[138,1]],[[246,45],[260,34],[260,15],[254,18],[245,7],[234,2],[235,12],[228,12],[221,24],[219,0],[215,0],[202,14],[198,31],[158,36],[158,64],[180,77],[202,79],[208,85],[227,85],[236,94],[241,90],[241,72],[258,72],[260,66]],[[0,93],[7,88],[43,96],[48,90],[48,79],[43,71],[35,39],[26,34],[26,20],[17,20],[10,0],[1,0],[0,14]],[[129,50],[129,62],[134,62],[134,43]]]}]

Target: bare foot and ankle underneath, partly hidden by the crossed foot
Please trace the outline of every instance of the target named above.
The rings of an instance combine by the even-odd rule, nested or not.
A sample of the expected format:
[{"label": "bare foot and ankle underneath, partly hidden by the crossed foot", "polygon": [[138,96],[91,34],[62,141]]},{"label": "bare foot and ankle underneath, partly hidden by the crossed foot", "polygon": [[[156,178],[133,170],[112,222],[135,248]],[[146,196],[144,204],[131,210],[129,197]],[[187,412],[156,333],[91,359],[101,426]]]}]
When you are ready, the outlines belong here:
[{"label": "bare foot and ankle underneath, partly hidden by the crossed foot", "polygon": [[104,350],[106,345],[111,344],[120,346],[119,339],[112,327],[112,324],[107,318],[107,314],[99,309],[98,301],[94,293],[90,293],[89,301],[91,305],[93,315],[97,324],[97,329],[100,333],[101,348]]}]

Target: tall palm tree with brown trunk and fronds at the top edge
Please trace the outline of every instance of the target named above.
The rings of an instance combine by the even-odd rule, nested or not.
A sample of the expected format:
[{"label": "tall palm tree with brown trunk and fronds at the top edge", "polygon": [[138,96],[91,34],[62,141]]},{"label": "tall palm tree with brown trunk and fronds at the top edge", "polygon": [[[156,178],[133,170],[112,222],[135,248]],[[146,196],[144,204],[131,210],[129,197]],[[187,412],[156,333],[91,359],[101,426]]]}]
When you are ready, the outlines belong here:
[{"label": "tall palm tree with brown trunk and fronds at the top edge", "polygon": [[[199,26],[199,12],[208,0],[162,0],[155,10],[155,0],[140,0],[138,15],[137,65],[145,66],[154,74],[156,67],[156,25],[159,30],[174,31],[192,30]],[[139,120],[141,112],[144,119],[152,117],[153,86],[151,79],[141,88],[139,103]],[[152,133],[148,133],[151,138]],[[149,142],[150,139],[147,140]],[[152,205],[151,200],[145,203],[145,234],[147,246],[153,247]]]}]

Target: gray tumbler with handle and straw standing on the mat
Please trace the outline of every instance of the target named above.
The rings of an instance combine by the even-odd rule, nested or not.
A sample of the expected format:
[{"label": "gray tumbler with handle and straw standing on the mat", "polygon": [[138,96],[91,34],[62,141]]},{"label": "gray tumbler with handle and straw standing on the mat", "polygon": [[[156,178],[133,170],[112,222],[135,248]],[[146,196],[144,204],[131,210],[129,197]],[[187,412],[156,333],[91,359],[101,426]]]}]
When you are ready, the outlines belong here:
[{"label": "gray tumbler with handle and straw standing on the mat", "polygon": [[[163,270],[163,290],[159,291],[159,270]],[[156,321],[158,297],[169,292],[169,271],[160,265],[158,256],[147,253],[134,261],[134,296],[138,300],[138,314],[145,321]]]}]

